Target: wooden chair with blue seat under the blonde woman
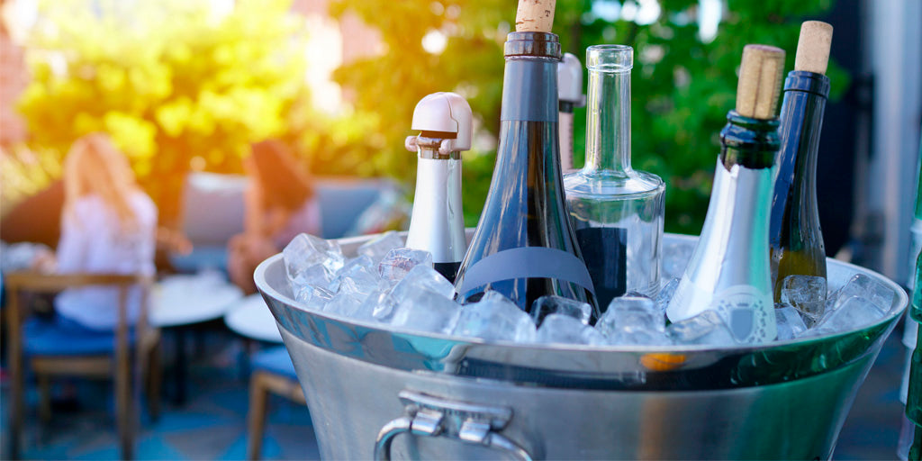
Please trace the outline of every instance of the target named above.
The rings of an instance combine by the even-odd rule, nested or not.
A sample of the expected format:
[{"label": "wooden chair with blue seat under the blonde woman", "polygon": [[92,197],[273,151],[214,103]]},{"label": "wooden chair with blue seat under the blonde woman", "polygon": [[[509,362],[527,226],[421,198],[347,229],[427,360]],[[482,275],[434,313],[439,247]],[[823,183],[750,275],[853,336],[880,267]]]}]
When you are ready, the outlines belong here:
[{"label": "wooden chair with blue seat under the blonde woman", "polygon": [[[121,455],[124,459],[134,456],[136,431],[136,392],[133,385],[143,370],[147,373],[148,405],[152,418],[160,412],[160,330],[147,325],[147,294],[153,283],[149,276],[122,274],[39,274],[14,272],[5,274],[6,311],[9,323],[8,349],[11,377],[10,393],[10,455],[18,458],[19,438],[23,426],[23,391],[25,368],[23,359],[28,358],[35,372],[41,394],[40,416],[51,418],[50,377],[53,375],[83,375],[89,377],[112,377],[115,388],[116,422],[118,424]],[[87,286],[114,286],[119,292],[118,325],[112,333],[88,335],[87,337],[65,337],[55,334],[53,326],[43,335],[24,336],[22,324],[28,316],[27,303],[21,302],[23,293],[55,293],[65,289]],[[127,320],[128,290],[140,286],[144,290],[144,301],[135,327]],[[132,356],[136,356],[133,360]],[[132,367],[132,362],[135,367]]]}]

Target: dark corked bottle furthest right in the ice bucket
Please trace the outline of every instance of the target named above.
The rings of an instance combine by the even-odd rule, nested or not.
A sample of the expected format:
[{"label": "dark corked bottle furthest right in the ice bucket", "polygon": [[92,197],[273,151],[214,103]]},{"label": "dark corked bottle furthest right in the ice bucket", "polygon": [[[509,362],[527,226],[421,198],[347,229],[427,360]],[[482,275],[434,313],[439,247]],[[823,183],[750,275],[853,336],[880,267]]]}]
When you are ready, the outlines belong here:
[{"label": "dark corked bottle furthest right in the ice bucket", "polygon": [[824,74],[832,39],[829,24],[804,22],[794,70],[785,80],[778,179],[769,226],[774,301],[781,301],[788,276],[826,277],[826,250],[816,203],[816,159],[829,97],[829,77]]}]

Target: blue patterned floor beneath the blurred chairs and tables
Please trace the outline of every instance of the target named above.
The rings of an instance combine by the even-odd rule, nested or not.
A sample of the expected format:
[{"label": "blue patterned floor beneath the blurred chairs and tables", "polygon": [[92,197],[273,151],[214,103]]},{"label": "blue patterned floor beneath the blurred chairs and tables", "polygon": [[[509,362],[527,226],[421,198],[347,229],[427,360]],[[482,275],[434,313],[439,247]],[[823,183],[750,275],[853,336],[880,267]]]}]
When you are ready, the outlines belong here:
[{"label": "blue patterned floor beneath the blurred chairs and tables", "polygon": [[[159,420],[150,420],[146,411],[143,414],[136,439],[138,459],[246,457],[249,383],[240,369],[242,341],[227,332],[209,331],[204,342],[206,350],[194,354],[195,360],[190,365],[187,403],[174,405],[166,397],[161,401]],[[169,359],[171,345],[165,346],[167,353],[164,355]],[[169,388],[171,379],[171,375],[166,375],[164,386]],[[111,384],[76,384],[80,411],[55,413],[52,422],[45,426],[36,422],[37,396],[34,391],[29,392],[30,412],[26,420],[23,458],[119,458]],[[6,386],[3,396],[6,399]],[[4,436],[6,442],[6,434]],[[308,409],[270,395],[263,459],[319,458]]]}]

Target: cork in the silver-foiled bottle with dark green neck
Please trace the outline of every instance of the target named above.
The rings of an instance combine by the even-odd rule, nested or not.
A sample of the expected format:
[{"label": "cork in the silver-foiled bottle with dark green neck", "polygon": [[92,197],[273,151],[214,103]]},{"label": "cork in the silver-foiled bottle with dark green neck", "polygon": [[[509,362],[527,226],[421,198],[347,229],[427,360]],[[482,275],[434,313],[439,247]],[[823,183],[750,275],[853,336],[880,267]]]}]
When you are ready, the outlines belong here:
[{"label": "cork in the silver-foiled bottle with dark green neck", "polygon": [[784,70],[784,50],[768,45],[746,45],[739,66],[737,112],[761,120],[774,118]]}]

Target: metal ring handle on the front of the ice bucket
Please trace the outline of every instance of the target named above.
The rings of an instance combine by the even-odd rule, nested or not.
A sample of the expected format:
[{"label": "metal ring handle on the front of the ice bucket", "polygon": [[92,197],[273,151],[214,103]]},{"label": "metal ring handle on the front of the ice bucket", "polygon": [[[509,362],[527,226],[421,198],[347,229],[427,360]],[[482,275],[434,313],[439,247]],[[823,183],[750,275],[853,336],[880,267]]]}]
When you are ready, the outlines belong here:
[{"label": "metal ring handle on the front of the ice bucket", "polygon": [[378,432],[378,439],[374,441],[375,460],[389,461],[391,443],[396,435],[404,432],[479,443],[511,455],[514,459],[532,459],[524,448],[496,432],[512,419],[512,408],[457,402],[410,390],[400,391],[399,396],[406,414],[388,421]]}]

